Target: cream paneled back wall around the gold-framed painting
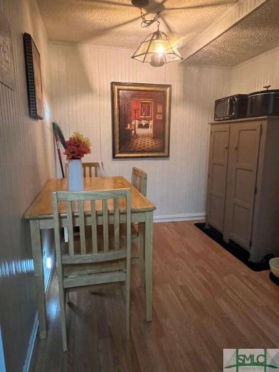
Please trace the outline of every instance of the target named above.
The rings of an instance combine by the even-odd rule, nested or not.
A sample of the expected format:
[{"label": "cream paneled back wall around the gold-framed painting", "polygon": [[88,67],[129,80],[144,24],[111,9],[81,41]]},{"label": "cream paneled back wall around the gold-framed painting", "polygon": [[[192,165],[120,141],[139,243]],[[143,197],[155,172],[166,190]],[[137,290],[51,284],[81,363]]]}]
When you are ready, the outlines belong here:
[{"label": "cream paneled back wall around the gold-framed painting", "polygon": [[[131,51],[49,43],[51,118],[68,137],[78,130],[93,141],[84,161],[103,161],[108,175],[131,177],[133,166],[148,173],[155,218],[203,217],[208,121],[214,100],[224,96],[231,71],[175,63],[154,68],[131,59]],[[111,81],[172,85],[170,159],[112,159]],[[61,171],[57,165],[57,174]]]}]

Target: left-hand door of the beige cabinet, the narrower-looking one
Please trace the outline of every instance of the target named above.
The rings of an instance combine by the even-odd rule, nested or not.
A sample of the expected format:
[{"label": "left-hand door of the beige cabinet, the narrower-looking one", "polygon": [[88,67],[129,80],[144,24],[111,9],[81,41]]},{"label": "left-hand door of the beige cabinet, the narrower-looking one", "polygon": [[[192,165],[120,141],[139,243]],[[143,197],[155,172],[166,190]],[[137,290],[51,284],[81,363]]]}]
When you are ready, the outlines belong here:
[{"label": "left-hand door of the beige cabinet, the narrower-looking one", "polygon": [[224,225],[230,125],[211,125],[206,222],[220,232]]}]

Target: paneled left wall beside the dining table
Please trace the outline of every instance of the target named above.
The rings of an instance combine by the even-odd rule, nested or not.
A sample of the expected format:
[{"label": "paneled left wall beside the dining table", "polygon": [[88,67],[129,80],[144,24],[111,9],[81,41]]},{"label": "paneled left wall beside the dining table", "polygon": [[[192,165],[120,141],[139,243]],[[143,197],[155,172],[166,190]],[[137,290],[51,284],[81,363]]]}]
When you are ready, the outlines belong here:
[{"label": "paneled left wall beside the dining table", "polygon": [[[41,53],[45,109],[48,106],[47,38],[33,0],[0,0],[14,44],[16,90],[0,83],[0,325],[7,371],[22,371],[36,315],[33,262],[23,214],[55,174],[49,120],[28,113],[23,32]],[[46,255],[51,235],[43,236]]]}]

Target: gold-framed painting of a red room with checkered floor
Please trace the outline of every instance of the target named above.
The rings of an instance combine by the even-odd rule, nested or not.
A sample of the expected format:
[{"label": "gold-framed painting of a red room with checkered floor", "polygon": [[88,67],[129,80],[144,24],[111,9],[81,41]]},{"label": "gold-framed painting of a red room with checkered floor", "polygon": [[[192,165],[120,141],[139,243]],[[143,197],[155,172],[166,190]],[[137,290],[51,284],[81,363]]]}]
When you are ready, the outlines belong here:
[{"label": "gold-framed painting of a red room with checkered floor", "polygon": [[112,82],[111,103],[114,158],[170,156],[171,85]]}]

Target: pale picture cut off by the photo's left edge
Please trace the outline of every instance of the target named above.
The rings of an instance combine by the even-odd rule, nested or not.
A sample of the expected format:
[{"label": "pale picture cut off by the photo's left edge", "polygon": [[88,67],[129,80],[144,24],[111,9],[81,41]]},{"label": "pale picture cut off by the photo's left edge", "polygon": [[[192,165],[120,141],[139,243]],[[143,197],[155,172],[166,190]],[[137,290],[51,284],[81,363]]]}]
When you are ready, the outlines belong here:
[{"label": "pale picture cut off by the photo's left edge", "polygon": [[12,33],[8,19],[0,11],[0,82],[15,90]]}]

